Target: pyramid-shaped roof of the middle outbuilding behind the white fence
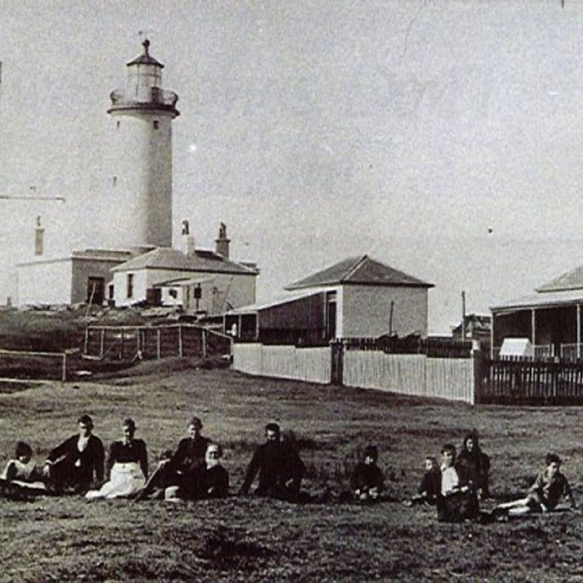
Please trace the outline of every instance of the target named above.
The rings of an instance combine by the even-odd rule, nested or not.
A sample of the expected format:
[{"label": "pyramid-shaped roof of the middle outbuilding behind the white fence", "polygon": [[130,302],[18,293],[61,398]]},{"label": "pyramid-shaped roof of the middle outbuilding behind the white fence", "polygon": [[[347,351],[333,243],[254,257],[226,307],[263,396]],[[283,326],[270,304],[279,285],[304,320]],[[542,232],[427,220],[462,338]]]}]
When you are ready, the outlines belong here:
[{"label": "pyramid-shaped roof of the middle outbuilding behind the white fence", "polygon": [[314,273],[314,275],[291,283],[286,286],[286,289],[296,290],[303,287],[345,284],[433,287],[433,283],[423,282],[402,271],[375,261],[368,255],[361,255],[361,257],[343,259],[343,261]]}]

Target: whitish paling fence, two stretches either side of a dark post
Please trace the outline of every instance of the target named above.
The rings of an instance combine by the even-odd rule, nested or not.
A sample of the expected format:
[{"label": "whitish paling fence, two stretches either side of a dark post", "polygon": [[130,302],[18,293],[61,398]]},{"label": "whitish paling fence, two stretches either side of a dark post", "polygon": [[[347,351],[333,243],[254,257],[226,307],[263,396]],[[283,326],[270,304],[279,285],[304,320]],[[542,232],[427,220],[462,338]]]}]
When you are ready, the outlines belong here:
[{"label": "whitish paling fence, two stretches either side of a dark post", "polygon": [[[332,378],[328,346],[233,345],[233,368],[261,377],[291,378],[328,384]],[[385,354],[345,350],[343,384],[474,404],[473,359],[430,358],[423,354]]]}]

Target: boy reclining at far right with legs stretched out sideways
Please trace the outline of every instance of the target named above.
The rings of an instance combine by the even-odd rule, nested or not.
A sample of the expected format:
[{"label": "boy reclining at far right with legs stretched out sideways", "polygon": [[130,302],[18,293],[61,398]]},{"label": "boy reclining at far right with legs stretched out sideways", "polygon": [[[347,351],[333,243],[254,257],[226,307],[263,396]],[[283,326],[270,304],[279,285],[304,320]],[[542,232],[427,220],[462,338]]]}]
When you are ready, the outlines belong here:
[{"label": "boy reclining at far right with legs stretched out sideways", "polygon": [[528,495],[519,500],[498,504],[494,509],[495,516],[550,512],[557,507],[563,497],[570,501],[571,508],[578,507],[567,478],[561,472],[561,458],[556,454],[547,454],[545,463],[546,469],[536,476],[535,483],[528,490]]}]

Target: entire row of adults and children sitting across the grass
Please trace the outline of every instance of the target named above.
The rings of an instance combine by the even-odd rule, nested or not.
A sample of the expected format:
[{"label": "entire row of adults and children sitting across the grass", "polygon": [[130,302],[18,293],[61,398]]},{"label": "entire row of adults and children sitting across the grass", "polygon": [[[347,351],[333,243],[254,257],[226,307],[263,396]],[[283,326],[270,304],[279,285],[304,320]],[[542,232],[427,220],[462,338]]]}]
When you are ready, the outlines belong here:
[{"label": "entire row of adults and children sitting across the grass", "polygon": [[[93,434],[91,417],[79,417],[78,427],[78,433],[50,451],[43,466],[34,463],[30,445],[18,442],[15,458],[0,476],[0,493],[12,497],[77,493],[88,500],[124,497],[167,501],[222,498],[229,494],[229,473],[220,461],[222,448],[201,435],[199,417],[192,417],[188,437],[180,440],[175,452],[164,452],[151,474],[146,444],[135,437],[133,419],[124,419],[123,437],[112,442],[107,463],[103,443]],[[359,502],[381,499],[384,475],[377,460],[377,447],[368,445],[352,471],[351,491],[348,497],[343,497],[345,501],[347,498]],[[548,454],[546,469],[538,475],[527,496],[499,504],[489,517],[505,519],[550,511],[563,496],[576,508],[573,492],[560,466],[559,456]],[[436,458],[427,456],[424,470],[419,493],[406,504],[435,505],[438,520],[443,522],[483,518],[479,504],[490,496],[490,458],[480,448],[476,431],[465,437],[459,455],[454,445],[444,445],[441,466]],[[254,491],[257,496],[298,501],[304,473],[305,466],[297,449],[282,440],[278,424],[268,423],[265,442],[255,449],[239,493],[250,493],[258,476]]]}]

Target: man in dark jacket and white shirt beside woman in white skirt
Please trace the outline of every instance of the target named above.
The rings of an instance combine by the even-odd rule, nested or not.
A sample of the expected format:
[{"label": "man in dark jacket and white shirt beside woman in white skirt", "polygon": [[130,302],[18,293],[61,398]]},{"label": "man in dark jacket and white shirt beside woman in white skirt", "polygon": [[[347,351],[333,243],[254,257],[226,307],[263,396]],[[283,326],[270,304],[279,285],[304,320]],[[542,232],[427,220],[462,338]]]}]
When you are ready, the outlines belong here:
[{"label": "man in dark jacket and white shirt beside woman in white skirt", "polygon": [[45,462],[43,472],[55,493],[85,493],[103,483],[103,443],[93,435],[89,415],[82,415],[77,422],[79,433],[52,449]]}]

